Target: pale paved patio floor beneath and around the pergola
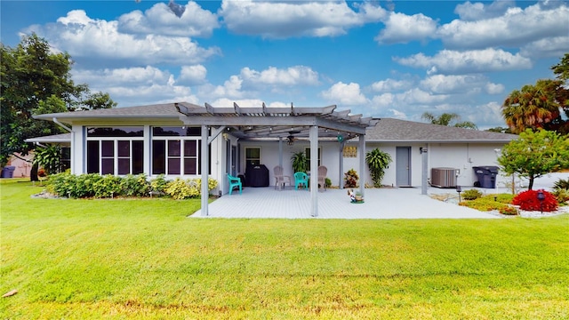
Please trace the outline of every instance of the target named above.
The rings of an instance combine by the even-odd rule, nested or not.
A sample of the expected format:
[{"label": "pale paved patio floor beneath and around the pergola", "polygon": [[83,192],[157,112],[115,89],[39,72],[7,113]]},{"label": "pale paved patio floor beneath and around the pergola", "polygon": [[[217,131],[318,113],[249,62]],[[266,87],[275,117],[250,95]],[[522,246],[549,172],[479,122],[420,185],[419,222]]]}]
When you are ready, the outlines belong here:
[{"label": "pale paved patio floor beneath and around the pergola", "polygon": [[[552,173],[535,181],[534,189],[550,189],[568,173]],[[463,190],[472,187],[463,187]],[[506,188],[477,188],[485,194],[508,193]],[[203,218],[273,218],[273,219],[500,219],[489,212],[459,206],[454,189],[429,188],[429,195],[444,194],[447,201],[421,195],[421,188],[368,188],[365,203],[351,204],[346,189],[318,192],[318,216],[310,216],[307,190],[244,188],[243,194],[221,196],[209,205],[209,215],[197,211],[191,217]]]}]

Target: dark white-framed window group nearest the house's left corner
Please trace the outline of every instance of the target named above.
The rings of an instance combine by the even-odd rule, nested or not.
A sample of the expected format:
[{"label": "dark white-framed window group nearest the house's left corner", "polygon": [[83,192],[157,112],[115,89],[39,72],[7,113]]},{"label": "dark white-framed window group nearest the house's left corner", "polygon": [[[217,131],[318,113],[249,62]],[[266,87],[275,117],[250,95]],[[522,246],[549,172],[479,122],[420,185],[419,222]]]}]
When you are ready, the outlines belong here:
[{"label": "dark white-framed window group nearest the house's left corner", "polygon": [[142,127],[87,128],[87,173],[139,174],[144,170]]}]

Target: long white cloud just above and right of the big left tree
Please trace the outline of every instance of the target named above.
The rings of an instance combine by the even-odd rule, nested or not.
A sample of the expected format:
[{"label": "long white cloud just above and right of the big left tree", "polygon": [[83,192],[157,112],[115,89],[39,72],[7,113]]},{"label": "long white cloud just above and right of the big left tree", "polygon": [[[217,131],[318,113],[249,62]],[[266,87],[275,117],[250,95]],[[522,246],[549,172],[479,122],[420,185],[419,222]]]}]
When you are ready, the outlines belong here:
[{"label": "long white cloud just above and right of the big left tree", "polygon": [[218,48],[202,48],[187,37],[148,35],[139,38],[125,35],[118,32],[116,21],[93,20],[83,10],[68,12],[57,21],[33,26],[28,31],[45,37],[60,51],[69,52],[80,67],[97,64],[188,64],[220,53]]}]

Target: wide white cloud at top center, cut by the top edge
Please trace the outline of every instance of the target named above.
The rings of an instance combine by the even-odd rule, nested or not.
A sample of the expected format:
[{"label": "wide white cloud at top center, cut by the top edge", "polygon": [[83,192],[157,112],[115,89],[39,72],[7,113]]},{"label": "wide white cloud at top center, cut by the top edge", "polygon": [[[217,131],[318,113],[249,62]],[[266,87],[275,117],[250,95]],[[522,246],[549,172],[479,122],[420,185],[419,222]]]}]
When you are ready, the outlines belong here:
[{"label": "wide white cloud at top center, cut by the top edge", "polygon": [[236,34],[283,38],[339,36],[347,29],[381,19],[379,6],[358,4],[355,12],[345,2],[270,2],[223,0],[220,16]]}]

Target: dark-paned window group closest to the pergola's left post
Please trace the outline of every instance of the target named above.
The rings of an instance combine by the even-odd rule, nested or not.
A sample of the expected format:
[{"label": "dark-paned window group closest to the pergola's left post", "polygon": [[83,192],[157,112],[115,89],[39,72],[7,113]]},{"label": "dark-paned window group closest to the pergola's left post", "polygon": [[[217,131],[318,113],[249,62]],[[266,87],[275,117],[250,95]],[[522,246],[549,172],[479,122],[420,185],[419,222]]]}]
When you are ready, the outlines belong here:
[{"label": "dark-paned window group closest to the pergola's left post", "polygon": [[153,127],[152,174],[200,174],[200,127]]}]

